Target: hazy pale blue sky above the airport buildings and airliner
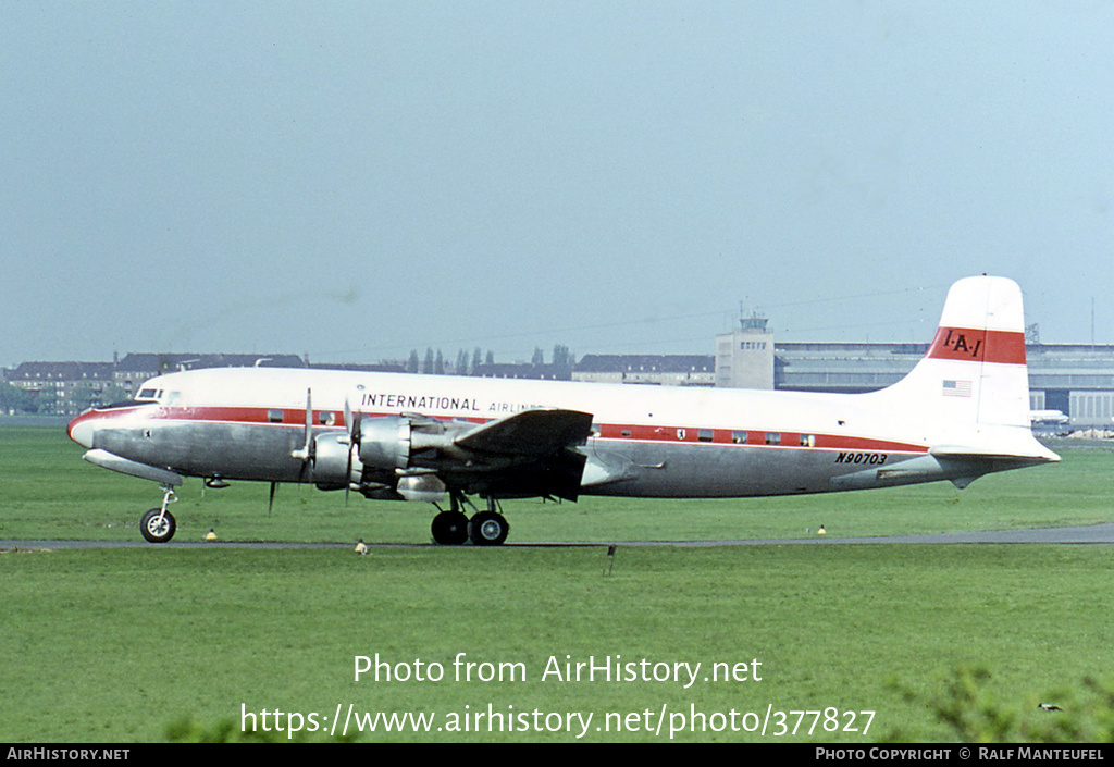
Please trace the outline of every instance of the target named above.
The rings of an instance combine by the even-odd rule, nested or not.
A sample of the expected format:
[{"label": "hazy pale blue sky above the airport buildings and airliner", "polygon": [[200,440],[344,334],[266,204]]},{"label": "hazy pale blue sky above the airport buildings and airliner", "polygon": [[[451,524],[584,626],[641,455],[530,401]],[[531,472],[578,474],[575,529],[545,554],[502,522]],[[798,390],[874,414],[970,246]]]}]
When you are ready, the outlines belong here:
[{"label": "hazy pale blue sky above the airport buildings and airliner", "polygon": [[0,365],[1114,342],[1114,3],[6,2]]}]

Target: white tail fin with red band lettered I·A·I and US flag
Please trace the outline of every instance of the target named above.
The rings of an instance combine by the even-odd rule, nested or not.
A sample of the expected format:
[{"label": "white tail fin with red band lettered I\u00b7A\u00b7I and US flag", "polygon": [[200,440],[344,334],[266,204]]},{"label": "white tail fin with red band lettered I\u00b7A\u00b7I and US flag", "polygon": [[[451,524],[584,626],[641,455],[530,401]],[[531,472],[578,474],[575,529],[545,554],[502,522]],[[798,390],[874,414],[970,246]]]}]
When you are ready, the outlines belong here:
[{"label": "white tail fin with red band lettered I\u00b7A\u00b7I and US flag", "polygon": [[925,358],[866,396],[930,424],[934,454],[1058,459],[1029,430],[1025,314],[1013,280],[974,276],[951,285]]}]

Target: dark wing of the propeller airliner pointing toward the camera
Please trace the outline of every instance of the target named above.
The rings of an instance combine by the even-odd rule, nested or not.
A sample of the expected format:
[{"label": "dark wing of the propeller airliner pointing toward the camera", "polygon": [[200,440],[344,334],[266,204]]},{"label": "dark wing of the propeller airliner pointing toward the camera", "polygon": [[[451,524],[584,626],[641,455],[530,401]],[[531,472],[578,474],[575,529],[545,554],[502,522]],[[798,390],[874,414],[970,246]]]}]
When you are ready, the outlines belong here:
[{"label": "dark wing of the propeller airliner pointing toward the camera", "polygon": [[522,410],[483,424],[453,443],[469,450],[512,456],[548,456],[582,445],[592,431],[592,414],[544,408]]}]

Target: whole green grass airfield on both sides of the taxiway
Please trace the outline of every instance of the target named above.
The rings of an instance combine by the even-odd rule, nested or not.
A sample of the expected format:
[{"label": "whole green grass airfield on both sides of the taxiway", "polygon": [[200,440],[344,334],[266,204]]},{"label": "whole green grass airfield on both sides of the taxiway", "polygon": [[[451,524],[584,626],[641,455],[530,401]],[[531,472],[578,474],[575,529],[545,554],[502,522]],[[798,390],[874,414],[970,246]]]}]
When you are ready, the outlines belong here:
[{"label": "whole green grass airfield on both sides of the taxiway", "polygon": [[[1062,464],[962,492],[944,484],[505,508],[518,542],[800,537],[821,523],[838,537],[1110,521],[1114,455],[1063,455]],[[283,487],[268,515],[263,485],[202,498],[195,484],[180,495],[180,540],[211,526],[223,540],[429,537],[419,505],[353,497],[345,509],[342,495]],[[134,540],[138,514],[158,497],[149,483],[85,464],[57,430],[0,428],[0,538]],[[685,728],[677,740],[954,740],[936,709],[957,677],[968,679],[962,669],[986,671],[979,705],[1015,717],[1018,732],[1062,716],[1040,711],[1038,700],[1065,702],[1063,716],[1073,716],[1084,680],[1114,676],[1107,546],[619,546],[605,575],[608,565],[605,547],[8,552],[0,740],[213,736],[238,731],[244,712],[274,726],[275,710],[284,730],[299,721],[291,713],[303,730],[321,730],[339,707],[346,718],[349,705],[436,717],[430,732],[387,734],[383,722],[375,734],[350,731],[359,741],[571,741],[582,731],[589,741],[665,741],[671,726]],[[410,679],[355,681],[355,658],[377,653]],[[459,653],[488,666],[458,680]],[[645,659],[651,678],[545,674],[550,658],[564,671],[566,661],[617,656]],[[673,680],[674,663],[697,662],[687,688],[683,667]],[[745,669],[747,679],[713,681],[713,663]],[[418,681],[418,666],[443,677]],[[502,681],[480,679],[500,668]],[[749,678],[755,672],[761,681]],[[731,730],[751,729],[768,710],[821,713],[774,715],[765,737]],[[874,712],[866,735],[862,711]],[[567,713],[582,718],[557,716]],[[468,731],[452,729],[465,722]],[[858,731],[843,731],[849,725]],[[782,728],[789,732],[775,737]]]}]

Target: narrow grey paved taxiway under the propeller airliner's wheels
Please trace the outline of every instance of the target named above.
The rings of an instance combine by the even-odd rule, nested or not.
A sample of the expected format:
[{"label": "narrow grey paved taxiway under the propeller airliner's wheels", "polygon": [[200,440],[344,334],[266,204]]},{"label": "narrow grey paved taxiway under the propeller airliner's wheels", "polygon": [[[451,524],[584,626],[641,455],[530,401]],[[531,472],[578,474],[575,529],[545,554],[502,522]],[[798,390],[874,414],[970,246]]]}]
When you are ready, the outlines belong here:
[{"label": "narrow grey paved taxiway under the propeller airliner's wheels", "polygon": [[[863,543],[1058,543],[1058,544],[1114,544],[1114,523],[1079,527],[1042,527],[1035,530],[990,530],[973,533],[927,533],[922,535],[891,535],[871,537],[840,537],[829,532],[825,536],[802,538],[753,538],[739,541],[610,541],[594,543],[508,543],[508,546],[771,546],[771,545],[840,545]],[[150,544],[145,541],[0,541],[0,551],[13,548],[351,548],[353,543],[277,543],[174,541]],[[426,544],[369,543],[375,547],[432,546]]]}]

